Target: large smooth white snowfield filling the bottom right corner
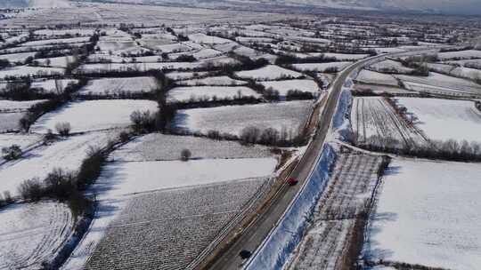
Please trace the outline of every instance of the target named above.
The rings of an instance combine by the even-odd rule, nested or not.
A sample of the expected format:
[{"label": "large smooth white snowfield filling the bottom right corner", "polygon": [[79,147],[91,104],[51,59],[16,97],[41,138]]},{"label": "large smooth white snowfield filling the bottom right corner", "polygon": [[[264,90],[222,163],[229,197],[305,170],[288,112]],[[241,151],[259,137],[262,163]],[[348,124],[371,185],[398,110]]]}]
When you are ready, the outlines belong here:
[{"label": "large smooth white snowfield filling the bottom right corner", "polygon": [[479,175],[477,163],[391,163],[364,246],[371,260],[477,269],[481,265]]}]

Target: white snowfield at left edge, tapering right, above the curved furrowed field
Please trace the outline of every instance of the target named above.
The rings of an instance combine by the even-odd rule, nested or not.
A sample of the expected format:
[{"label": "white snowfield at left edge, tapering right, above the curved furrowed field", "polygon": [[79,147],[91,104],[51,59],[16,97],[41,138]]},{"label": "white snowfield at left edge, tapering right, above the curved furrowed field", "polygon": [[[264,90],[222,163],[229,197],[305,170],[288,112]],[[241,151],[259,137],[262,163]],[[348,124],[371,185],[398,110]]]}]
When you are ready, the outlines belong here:
[{"label": "white snowfield at left edge, tapering right, above the curved furrowed field", "polygon": [[71,136],[49,146],[36,147],[20,160],[0,166],[0,193],[8,190],[18,195],[18,187],[27,179],[45,179],[55,168],[77,171],[89,147],[104,147],[117,132],[90,132]]}]

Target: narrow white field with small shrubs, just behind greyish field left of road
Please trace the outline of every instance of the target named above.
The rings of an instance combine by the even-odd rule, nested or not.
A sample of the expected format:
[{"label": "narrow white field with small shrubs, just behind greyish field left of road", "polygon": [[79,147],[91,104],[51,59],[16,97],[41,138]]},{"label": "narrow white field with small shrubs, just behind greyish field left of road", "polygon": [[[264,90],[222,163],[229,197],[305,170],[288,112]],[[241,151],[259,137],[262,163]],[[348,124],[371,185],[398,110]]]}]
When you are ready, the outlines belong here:
[{"label": "narrow white field with small shrubs, just behind greyish field left of road", "polygon": [[259,99],[262,96],[257,91],[246,86],[189,86],[175,87],[168,91],[167,102],[196,102],[200,100],[242,99],[247,97]]}]

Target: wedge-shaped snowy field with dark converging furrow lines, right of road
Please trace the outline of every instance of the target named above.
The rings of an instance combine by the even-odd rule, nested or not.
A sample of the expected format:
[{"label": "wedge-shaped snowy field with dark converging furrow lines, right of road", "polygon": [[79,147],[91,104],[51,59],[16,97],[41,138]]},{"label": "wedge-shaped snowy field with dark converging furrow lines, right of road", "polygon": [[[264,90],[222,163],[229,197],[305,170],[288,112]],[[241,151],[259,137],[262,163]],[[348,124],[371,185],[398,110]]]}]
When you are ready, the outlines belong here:
[{"label": "wedge-shaped snowy field with dark converging furrow lines, right of road", "polygon": [[416,147],[427,142],[412,124],[396,114],[386,99],[355,98],[351,111],[355,144],[372,147]]}]

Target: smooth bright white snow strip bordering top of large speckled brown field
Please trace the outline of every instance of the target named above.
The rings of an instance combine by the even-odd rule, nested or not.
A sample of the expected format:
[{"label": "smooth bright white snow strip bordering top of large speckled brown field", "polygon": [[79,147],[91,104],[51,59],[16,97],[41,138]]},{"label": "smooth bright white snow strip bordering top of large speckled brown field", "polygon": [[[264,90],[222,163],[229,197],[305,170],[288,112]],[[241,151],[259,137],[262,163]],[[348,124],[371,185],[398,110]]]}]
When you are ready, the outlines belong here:
[{"label": "smooth bright white snow strip bordering top of large speckled brown field", "polygon": [[110,195],[127,195],[232,179],[266,177],[273,173],[276,164],[277,160],[273,157],[200,159],[189,162],[113,162],[105,166],[95,185],[100,188],[110,187]]}]

